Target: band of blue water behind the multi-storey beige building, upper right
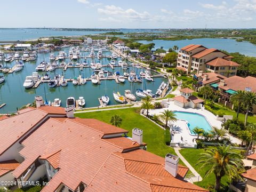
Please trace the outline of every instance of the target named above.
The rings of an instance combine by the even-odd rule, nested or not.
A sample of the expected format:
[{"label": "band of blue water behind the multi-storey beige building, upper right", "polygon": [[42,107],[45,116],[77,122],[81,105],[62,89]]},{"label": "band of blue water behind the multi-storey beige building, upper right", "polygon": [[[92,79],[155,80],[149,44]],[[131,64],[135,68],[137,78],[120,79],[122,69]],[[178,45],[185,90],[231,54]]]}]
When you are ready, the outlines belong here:
[{"label": "band of blue water behind the multi-storey beige building, upper right", "polygon": [[177,45],[179,48],[189,44],[201,44],[207,48],[217,48],[220,50],[226,50],[230,53],[239,52],[245,55],[256,57],[256,45],[250,42],[237,42],[235,39],[225,38],[197,38],[197,39],[185,39],[179,41],[165,41],[165,40],[153,40],[153,41],[138,41],[140,43],[148,44],[155,43],[155,49],[164,47],[165,50],[172,48],[173,45]]}]

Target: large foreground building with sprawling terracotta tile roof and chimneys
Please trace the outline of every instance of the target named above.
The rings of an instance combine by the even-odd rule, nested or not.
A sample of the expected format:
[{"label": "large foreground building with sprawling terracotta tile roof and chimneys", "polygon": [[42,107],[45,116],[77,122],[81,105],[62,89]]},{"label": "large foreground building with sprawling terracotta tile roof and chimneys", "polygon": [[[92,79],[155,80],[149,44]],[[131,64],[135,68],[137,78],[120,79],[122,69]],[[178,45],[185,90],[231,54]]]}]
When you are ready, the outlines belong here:
[{"label": "large foreground building with sprawling terracotta tile roof and chimneys", "polygon": [[36,108],[0,121],[0,180],[7,170],[18,187],[46,176],[42,191],[207,191],[184,179],[179,157],[146,151],[142,130],[123,137],[128,131],[35,99]]}]

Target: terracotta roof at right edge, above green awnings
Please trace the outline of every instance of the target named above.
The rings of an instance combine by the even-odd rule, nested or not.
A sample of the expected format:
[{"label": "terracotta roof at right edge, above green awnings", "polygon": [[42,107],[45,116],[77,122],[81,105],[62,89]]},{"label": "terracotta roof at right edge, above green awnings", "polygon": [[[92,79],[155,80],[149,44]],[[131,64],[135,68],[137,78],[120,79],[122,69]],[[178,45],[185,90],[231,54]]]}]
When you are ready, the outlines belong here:
[{"label": "terracotta roof at right edge, above green awnings", "polygon": [[225,85],[219,86],[223,90],[245,90],[246,87],[251,87],[252,92],[256,92],[256,77],[239,77],[232,76],[225,79]]}]

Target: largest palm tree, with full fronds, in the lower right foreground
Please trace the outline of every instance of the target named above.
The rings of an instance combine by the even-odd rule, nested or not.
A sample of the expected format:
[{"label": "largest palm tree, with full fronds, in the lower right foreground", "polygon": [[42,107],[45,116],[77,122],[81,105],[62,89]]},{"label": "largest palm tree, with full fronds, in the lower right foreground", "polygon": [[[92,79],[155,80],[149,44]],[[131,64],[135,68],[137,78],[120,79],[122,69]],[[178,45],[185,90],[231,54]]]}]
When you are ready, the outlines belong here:
[{"label": "largest palm tree, with full fronds, in the lower right foreground", "polygon": [[244,170],[242,157],[230,146],[219,145],[217,148],[207,148],[200,155],[196,165],[202,163],[202,167],[207,167],[204,178],[212,172],[215,174],[215,190],[220,190],[221,178],[224,175],[230,179],[234,175],[236,178],[241,178],[239,172]]}]

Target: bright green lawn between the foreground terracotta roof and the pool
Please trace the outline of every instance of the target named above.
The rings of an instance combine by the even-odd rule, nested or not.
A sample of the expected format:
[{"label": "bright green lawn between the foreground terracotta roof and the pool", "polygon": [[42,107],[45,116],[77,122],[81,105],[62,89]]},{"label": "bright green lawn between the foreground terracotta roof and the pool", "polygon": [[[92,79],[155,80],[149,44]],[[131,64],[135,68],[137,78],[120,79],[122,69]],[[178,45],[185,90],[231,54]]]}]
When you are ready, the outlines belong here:
[{"label": "bright green lawn between the foreground terracotta roof and the pool", "polygon": [[[165,145],[164,130],[147,118],[135,113],[136,110],[138,110],[138,108],[95,111],[75,114],[75,116],[80,118],[95,118],[109,123],[111,116],[117,114],[123,119],[120,127],[129,131],[129,137],[132,137],[132,129],[134,127],[143,130],[143,142],[147,143],[148,151],[161,157],[164,157],[167,153],[175,154],[173,148]],[[181,161],[180,163],[183,164]]]}]

